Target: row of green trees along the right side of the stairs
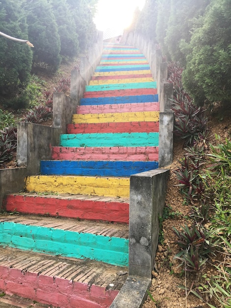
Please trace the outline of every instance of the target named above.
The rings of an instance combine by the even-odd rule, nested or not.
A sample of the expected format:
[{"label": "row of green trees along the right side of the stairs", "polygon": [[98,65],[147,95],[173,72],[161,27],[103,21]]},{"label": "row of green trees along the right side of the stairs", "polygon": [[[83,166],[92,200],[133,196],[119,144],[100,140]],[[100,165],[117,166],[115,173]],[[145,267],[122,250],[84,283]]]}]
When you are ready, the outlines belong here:
[{"label": "row of green trees along the right side of the stairs", "polygon": [[129,31],[158,43],[184,68],[183,86],[203,105],[231,101],[231,1],[146,0]]}]

